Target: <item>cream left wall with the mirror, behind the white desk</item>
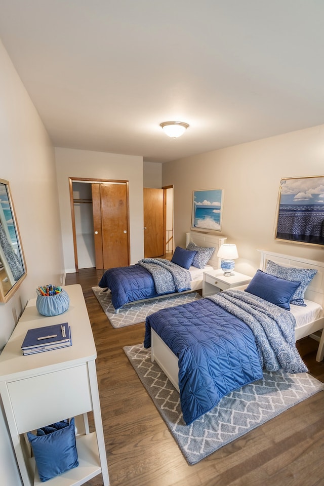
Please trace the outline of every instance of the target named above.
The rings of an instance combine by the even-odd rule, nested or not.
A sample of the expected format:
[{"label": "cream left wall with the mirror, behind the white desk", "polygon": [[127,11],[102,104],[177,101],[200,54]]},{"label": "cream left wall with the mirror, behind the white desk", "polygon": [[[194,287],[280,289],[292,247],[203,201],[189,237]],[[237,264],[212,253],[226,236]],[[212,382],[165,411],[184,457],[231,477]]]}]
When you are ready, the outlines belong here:
[{"label": "cream left wall with the mirror, behind the white desk", "polygon": [[[0,71],[0,178],[10,182],[27,265],[16,294],[0,304],[2,349],[36,287],[57,281],[63,253],[54,149],[1,42]],[[3,484],[21,484],[2,411],[0,470]]]}]

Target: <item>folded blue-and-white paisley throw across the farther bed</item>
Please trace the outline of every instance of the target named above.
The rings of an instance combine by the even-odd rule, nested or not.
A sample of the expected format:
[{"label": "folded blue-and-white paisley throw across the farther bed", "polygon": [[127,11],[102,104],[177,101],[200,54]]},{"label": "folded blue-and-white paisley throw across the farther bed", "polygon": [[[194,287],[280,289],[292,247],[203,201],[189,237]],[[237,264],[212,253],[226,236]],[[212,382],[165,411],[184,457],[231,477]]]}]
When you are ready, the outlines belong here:
[{"label": "folded blue-and-white paisley throw across the farther bed", "polygon": [[170,294],[191,290],[190,272],[169,260],[162,258],[143,258],[136,265],[141,265],[150,272],[157,294]]}]

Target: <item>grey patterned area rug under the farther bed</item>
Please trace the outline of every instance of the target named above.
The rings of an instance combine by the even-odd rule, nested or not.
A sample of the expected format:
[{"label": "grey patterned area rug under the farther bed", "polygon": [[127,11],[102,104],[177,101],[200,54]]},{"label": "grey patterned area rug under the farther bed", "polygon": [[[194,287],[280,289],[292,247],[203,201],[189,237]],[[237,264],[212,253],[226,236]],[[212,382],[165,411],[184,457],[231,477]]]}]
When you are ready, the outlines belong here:
[{"label": "grey patterned area rug under the farther bed", "polygon": [[100,287],[92,287],[92,290],[113,328],[124,328],[126,326],[131,326],[132,324],[144,322],[148,315],[153,314],[153,312],[156,312],[157,310],[186,304],[187,302],[202,298],[201,295],[193,292],[174,297],[165,297],[163,299],[154,299],[149,302],[128,304],[116,314],[114,306],[111,303],[111,294],[104,292],[104,289],[101,289]]}]

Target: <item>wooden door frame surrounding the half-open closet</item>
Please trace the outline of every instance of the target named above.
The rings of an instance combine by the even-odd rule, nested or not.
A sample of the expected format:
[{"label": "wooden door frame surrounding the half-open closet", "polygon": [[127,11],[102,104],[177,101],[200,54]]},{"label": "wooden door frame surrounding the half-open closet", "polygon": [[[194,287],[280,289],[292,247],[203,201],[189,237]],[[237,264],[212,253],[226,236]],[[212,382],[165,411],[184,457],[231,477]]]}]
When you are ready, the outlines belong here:
[{"label": "wooden door frame surrounding the half-open closet", "polygon": [[75,231],[75,214],[74,214],[74,198],[73,198],[73,182],[89,182],[89,184],[109,184],[113,182],[126,184],[126,198],[127,198],[127,235],[128,235],[128,259],[130,259],[130,209],[129,209],[129,181],[117,179],[92,179],[89,177],[69,177],[69,192],[70,192],[70,206],[71,206],[71,220],[72,220],[72,234],[73,234],[73,251],[74,251],[74,265],[75,271],[78,272],[77,260],[77,245],[76,245],[76,231]]}]

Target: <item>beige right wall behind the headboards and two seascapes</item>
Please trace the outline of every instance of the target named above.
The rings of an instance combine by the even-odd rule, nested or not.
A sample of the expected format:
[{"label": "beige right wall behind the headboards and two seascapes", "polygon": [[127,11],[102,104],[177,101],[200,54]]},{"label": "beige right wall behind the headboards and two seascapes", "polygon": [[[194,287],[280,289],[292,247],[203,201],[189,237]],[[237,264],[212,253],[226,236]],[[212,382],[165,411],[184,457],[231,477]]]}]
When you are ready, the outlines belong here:
[{"label": "beige right wall behind the headboards and two seascapes", "polygon": [[175,246],[185,245],[192,191],[223,189],[222,231],[237,245],[237,271],[254,274],[257,249],[323,261],[324,248],[274,239],[280,179],[324,175],[324,125],[163,164],[174,184]]}]

